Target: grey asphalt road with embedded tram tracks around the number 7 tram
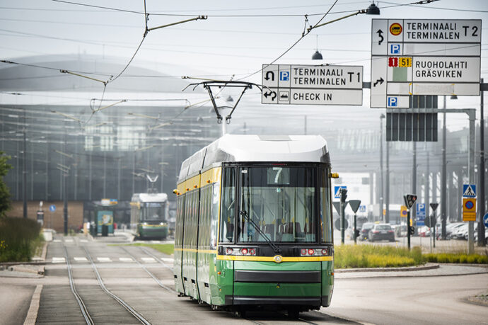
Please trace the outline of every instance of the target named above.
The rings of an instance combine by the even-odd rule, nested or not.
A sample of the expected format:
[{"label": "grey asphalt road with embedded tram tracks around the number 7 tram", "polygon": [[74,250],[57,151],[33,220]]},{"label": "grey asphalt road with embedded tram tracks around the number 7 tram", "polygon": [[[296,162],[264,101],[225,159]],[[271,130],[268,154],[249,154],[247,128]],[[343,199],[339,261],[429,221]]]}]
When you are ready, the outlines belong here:
[{"label": "grey asphalt road with embedded tram tracks around the number 7 tram", "polygon": [[[245,319],[215,312],[207,305],[178,297],[173,291],[170,256],[121,244],[126,237],[95,241],[84,236],[55,236],[50,243],[44,278],[0,274],[0,324],[23,324],[35,286],[42,284],[36,324],[87,324],[71,292],[74,289],[94,324],[141,324],[117,302],[117,296],[150,324],[487,324],[488,307],[468,304],[465,297],[488,292],[486,268],[449,266],[429,272],[336,273],[332,305],[301,313],[291,320],[277,312],[250,312]],[[148,253],[149,252],[149,253]],[[93,261],[93,265],[91,263]],[[449,270],[446,273],[446,269]],[[461,271],[462,270],[462,271]],[[6,271],[4,271],[6,272]],[[111,295],[100,286],[96,274]]]}]

